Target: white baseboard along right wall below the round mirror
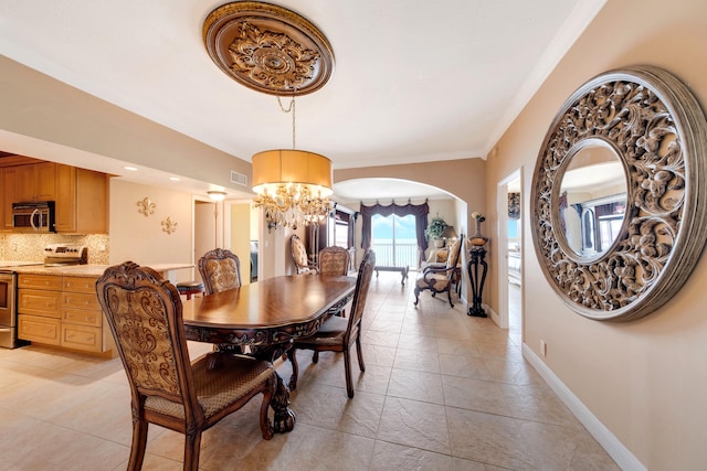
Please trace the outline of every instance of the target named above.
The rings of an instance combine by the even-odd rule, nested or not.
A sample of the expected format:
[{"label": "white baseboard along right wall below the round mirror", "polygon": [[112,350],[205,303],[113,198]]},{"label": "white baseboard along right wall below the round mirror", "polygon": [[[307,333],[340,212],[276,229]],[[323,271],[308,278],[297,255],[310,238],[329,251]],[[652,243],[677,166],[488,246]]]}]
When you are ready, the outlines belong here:
[{"label": "white baseboard along right wall below the round mirror", "polygon": [[584,406],[574,394],[558,378],[555,373],[535,354],[527,344],[523,344],[523,356],[542,376],[560,400],[574,414],[577,419],[589,430],[622,470],[647,471],[633,453]]}]

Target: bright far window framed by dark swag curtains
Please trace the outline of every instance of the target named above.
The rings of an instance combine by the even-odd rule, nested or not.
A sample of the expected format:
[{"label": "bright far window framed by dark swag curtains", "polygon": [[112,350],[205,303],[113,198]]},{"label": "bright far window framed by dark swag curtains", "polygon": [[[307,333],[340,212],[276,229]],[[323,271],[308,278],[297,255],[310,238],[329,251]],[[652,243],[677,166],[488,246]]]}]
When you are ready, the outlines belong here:
[{"label": "bright far window framed by dark swag curtains", "polygon": [[416,267],[419,249],[415,217],[374,214],[371,222],[371,247],[376,250],[376,265]]}]

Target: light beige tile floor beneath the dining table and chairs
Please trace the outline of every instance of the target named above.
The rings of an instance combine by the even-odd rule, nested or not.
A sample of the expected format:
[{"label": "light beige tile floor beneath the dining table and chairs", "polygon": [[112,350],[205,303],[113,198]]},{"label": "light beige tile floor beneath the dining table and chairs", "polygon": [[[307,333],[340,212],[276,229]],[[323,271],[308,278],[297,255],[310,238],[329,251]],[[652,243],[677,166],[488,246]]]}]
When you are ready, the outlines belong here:
[{"label": "light beige tile floor beneath the dining table and chairs", "polygon": [[[518,327],[500,330],[429,292],[415,308],[411,278],[402,288],[398,274],[373,277],[354,399],[341,354],[313,364],[299,352],[295,429],[262,440],[256,398],[204,433],[200,469],[619,469],[525,362]],[[276,366],[287,381],[289,365]],[[126,469],[129,398],[119,358],[0,349],[0,469]],[[150,426],[148,440],[143,469],[181,469],[181,435]]]}]

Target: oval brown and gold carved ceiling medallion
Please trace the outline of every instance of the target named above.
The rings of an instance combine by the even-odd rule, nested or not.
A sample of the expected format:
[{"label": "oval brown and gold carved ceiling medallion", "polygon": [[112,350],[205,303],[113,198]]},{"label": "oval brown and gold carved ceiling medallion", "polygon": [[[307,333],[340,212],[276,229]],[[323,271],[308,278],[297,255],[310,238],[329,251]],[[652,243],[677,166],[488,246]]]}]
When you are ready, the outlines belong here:
[{"label": "oval brown and gold carved ceiling medallion", "polygon": [[226,75],[270,95],[316,92],[334,71],[325,35],[299,14],[270,3],[236,1],[217,8],[203,23],[203,42]]}]

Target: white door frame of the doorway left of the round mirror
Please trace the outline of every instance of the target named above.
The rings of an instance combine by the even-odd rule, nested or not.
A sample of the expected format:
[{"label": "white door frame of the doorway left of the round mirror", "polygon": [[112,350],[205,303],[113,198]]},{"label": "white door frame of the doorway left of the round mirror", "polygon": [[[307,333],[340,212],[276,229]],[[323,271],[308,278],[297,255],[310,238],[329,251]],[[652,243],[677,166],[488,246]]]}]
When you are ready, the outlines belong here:
[{"label": "white door frame of the doorway left of the round mirror", "polygon": [[[508,329],[508,184],[515,180],[520,182],[520,195],[523,204],[523,167],[513,171],[503,179],[496,188],[496,208],[498,211],[498,246],[496,250],[496,266],[498,267],[498,320],[496,323],[502,329]],[[521,211],[523,215],[523,211]],[[523,215],[521,217],[525,217]],[[523,242],[523,225],[520,225],[518,238]],[[524,245],[520,246],[520,286],[523,286],[523,254]],[[525,323],[525,322],[524,322]]]}]

